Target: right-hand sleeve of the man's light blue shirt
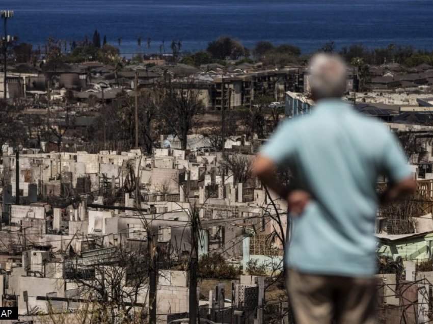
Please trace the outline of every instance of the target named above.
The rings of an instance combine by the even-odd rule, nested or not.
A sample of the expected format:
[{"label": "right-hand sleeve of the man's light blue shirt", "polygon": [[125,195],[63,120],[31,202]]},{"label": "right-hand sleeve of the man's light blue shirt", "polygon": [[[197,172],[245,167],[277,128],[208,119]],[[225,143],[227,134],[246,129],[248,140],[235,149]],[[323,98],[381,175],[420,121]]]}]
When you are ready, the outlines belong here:
[{"label": "right-hand sleeve of the man's light blue shirt", "polygon": [[408,158],[394,134],[388,132],[383,155],[383,171],[391,182],[398,182],[411,176]]}]

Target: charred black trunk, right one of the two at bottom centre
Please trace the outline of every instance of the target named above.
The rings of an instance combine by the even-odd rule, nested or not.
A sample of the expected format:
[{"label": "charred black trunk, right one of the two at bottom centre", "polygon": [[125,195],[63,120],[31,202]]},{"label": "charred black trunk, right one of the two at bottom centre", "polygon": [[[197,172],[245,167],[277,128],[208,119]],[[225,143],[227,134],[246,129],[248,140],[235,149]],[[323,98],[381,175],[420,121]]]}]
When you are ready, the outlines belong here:
[{"label": "charred black trunk, right one of the two at bottom centre", "polygon": [[198,272],[198,213],[191,214],[191,260],[189,265],[190,275],[190,324],[197,324],[197,272]]}]

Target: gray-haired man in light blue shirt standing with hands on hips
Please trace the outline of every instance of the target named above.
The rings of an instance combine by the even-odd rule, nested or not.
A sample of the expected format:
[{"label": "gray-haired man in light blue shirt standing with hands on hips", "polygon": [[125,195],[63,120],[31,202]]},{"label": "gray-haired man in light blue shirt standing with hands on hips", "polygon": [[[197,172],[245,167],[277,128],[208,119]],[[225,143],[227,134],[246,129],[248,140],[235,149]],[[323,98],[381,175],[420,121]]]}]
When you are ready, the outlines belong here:
[{"label": "gray-haired man in light blue shirt standing with hands on hips", "polygon": [[[300,324],[374,323],[376,208],[414,192],[407,158],[380,122],[341,100],[346,65],[318,54],[310,63],[312,113],[284,122],[253,173],[287,201],[286,286]],[[290,169],[290,188],[277,167]],[[379,197],[377,178],[389,180]]]}]

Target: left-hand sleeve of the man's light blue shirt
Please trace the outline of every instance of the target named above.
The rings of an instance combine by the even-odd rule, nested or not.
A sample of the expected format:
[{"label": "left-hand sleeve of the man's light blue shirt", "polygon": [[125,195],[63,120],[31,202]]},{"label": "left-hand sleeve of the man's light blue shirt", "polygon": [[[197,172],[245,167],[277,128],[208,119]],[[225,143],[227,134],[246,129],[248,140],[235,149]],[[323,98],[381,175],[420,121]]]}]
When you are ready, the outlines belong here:
[{"label": "left-hand sleeve of the man's light blue shirt", "polygon": [[273,160],[277,165],[284,164],[295,151],[294,124],[293,121],[282,123],[262,146],[260,154]]}]

